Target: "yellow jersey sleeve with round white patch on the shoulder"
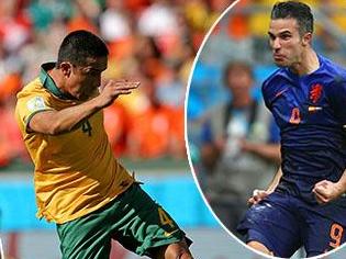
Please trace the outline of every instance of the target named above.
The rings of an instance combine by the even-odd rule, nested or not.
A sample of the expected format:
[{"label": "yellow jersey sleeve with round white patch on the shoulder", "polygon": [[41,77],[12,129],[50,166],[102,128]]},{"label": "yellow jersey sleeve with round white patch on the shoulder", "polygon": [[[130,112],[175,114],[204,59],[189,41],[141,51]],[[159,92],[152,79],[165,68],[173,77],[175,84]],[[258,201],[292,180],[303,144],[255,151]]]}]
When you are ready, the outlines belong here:
[{"label": "yellow jersey sleeve with round white patch on the shoulder", "polygon": [[52,111],[43,94],[36,93],[27,97],[19,98],[16,104],[16,113],[20,123],[23,124],[25,132],[31,119],[38,112]]}]

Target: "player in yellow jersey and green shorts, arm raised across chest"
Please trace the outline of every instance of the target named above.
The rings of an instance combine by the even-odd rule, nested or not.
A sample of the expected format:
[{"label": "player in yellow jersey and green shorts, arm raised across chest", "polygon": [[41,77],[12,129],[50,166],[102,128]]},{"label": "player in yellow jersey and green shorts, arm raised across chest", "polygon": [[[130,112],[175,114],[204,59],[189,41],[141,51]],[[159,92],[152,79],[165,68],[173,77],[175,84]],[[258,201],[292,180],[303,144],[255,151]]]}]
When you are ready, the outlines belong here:
[{"label": "player in yellow jersey and green shorts, arm raised across chest", "polygon": [[139,83],[100,87],[108,54],[98,36],[71,32],[57,61],[18,93],[37,216],[56,223],[64,259],[109,258],[112,238],[141,256],[192,258],[185,233],[113,157],[102,109]]}]

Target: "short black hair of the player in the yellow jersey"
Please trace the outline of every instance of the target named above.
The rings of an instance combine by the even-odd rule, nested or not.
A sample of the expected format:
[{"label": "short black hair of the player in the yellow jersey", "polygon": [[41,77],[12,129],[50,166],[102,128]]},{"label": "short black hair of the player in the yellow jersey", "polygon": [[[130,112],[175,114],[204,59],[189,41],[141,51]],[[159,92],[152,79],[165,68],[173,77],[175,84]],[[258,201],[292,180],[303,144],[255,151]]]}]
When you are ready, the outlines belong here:
[{"label": "short black hair of the player in the yellow jersey", "polygon": [[107,45],[100,37],[88,31],[74,31],[63,40],[57,66],[63,61],[86,65],[87,58],[105,57],[108,54]]}]

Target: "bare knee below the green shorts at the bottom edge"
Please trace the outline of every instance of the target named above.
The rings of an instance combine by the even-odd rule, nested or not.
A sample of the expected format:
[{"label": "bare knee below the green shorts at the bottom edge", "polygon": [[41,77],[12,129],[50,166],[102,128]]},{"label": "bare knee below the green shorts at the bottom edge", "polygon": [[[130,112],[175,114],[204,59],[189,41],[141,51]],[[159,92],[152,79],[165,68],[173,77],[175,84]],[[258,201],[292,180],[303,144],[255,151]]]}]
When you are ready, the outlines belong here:
[{"label": "bare knee below the green shorts at the bottom edge", "polygon": [[192,259],[192,255],[186,240],[158,247],[154,259]]}]

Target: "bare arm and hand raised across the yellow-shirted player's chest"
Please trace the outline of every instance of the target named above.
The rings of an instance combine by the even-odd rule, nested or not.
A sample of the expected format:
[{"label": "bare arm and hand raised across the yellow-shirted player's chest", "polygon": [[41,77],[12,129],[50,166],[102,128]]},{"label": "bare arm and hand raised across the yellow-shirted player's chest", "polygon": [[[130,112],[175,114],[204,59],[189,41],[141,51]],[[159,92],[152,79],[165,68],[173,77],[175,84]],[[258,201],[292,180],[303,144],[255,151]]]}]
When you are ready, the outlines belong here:
[{"label": "bare arm and hand raised across the yellow-shirted player's chest", "polygon": [[36,113],[29,122],[27,131],[49,135],[69,132],[83,119],[109,106],[119,95],[130,94],[138,86],[139,82],[110,80],[99,95],[79,105]]}]

